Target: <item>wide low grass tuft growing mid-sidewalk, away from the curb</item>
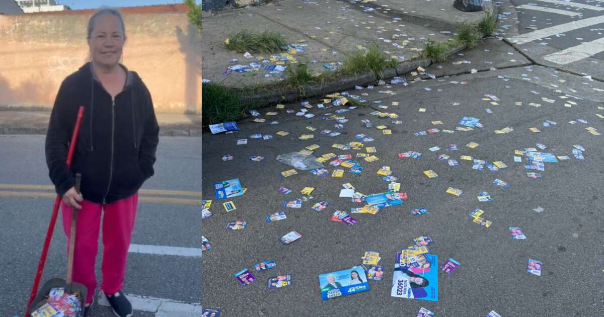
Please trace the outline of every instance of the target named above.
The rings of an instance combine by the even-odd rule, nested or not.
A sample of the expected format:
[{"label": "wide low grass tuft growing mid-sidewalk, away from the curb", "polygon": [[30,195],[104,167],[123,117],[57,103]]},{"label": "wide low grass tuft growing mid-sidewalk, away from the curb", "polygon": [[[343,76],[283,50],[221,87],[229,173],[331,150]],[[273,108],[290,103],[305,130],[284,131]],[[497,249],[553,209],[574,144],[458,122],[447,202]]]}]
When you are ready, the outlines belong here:
[{"label": "wide low grass tuft growing mid-sidewalk, away from the curb", "polygon": [[246,30],[230,36],[228,43],[225,43],[227,50],[237,53],[279,53],[287,45],[285,38],[279,33],[253,33]]}]

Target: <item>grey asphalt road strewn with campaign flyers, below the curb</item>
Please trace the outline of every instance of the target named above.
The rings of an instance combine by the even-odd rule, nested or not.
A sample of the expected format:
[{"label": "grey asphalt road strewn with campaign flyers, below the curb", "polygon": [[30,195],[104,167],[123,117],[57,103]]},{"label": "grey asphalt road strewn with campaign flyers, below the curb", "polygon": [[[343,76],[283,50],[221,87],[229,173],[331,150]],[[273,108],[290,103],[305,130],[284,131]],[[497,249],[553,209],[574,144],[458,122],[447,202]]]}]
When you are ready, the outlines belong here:
[{"label": "grey asphalt road strewn with campaign flyers, below the curb", "polygon": [[[225,316],[416,316],[420,307],[432,310],[435,316],[484,316],[491,310],[501,316],[603,315],[604,216],[599,210],[604,191],[600,186],[604,150],[602,136],[591,135],[585,127],[604,131],[602,120],[595,115],[603,112],[598,107],[602,107],[604,95],[597,89],[604,89],[604,85],[542,66],[514,66],[523,65],[524,60],[512,47],[506,49],[500,45],[492,43],[452,61],[469,60],[469,64],[444,63],[443,68],[428,69],[434,74],[461,75],[419,81],[409,87],[376,86],[373,91],[366,88],[350,91],[367,92],[365,98],[381,100],[380,104],[388,108],[372,104],[371,108],[339,114],[349,120],[342,129],[334,127],[335,121],[322,120],[338,108],[320,110],[316,108],[319,102],[310,100],[313,107],[309,110],[316,115],[314,118],[295,117],[284,109],[262,109],[259,118],[279,124],[270,126],[247,118],[239,123],[240,132],[204,134],[202,192],[204,199],[214,201],[210,207],[213,216],[202,220],[202,234],[214,248],[202,257],[202,305],[220,309]],[[510,59],[515,62],[510,64]],[[486,61],[492,63],[485,67]],[[500,65],[507,68],[482,71]],[[452,66],[455,70],[449,71]],[[472,68],[481,71],[464,74]],[[396,95],[379,93],[385,90]],[[483,100],[485,94],[498,97],[498,105],[491,104],[490,99]],[[576,105],[565,107],[568,100]],[[393,101],[398,101],[399,106],[392,106]],[[521,106],[516,105],[518,101]],[[419,112],[420,107],[426,112]],[[298,111],[301,106],[286,104],[286,109]],[[390,118],[373,116],[370,113],[374,110],[396,113],[403,123],[391,124]],[[278,115],[265,115],[269,111]],[[432,128],[455,130],[464,116],[480,118],[484,128],[413,135]],[[371,120],[374,127],[365,128],[361,123],[365,119]],[[577,119],[588,123],[568,123]],[[544,120],[557,124],[544,127]],[[443,124],[433,125],[431,121]],[[391,129],[392,135],[382,135],[376,129],[381,124]],[[317,130],[310,132],[307,126]],[[494,133],[507,126],[513,127],[513,132]],[[541,132],[530,132],[531,127]],[[323,129],[342,134],[330,138],[319,133]],[[290,134],[276,135],[280,130]],[[248,138],[255,133],[272,134],[274,139]],[[298,139],[310,133],[314,138]],[[365,150],[338,150],[332,144],[357,141],[358,133],[375,139],[365,147],[376,147],[374,155],[379,158],[374,162],[357,158],[364,167],[361,175],[342,168],[345,170],[342,178],[320,178],[303,170],[288,178],[280,176],[281,171],[291,167],[275,161],[278,154],[318,144],[321,147],[316,149],[316,156],[326,153],[355,156]],[[247,145],[236,145],[237,139],[245,138]],[[479,146],[470,149],[466,146],[469,142],[477,142]],[[544,152],[571,159],[546,163],[545,171],[536,171],[542,178],[528,178],[526,159],[514,162],[513,156],[515,150],[535,147],[536,142],[548,146]],[[459,150],[448,150],[449,144],[457,144]],[[573,157],[575,144],[586,149],[585,161]],[[441,150],[428,150],[434,146]],[[419,160],[397,157],[397,153],[407,151],[420,152],[422,157]],[[222,161],[227,154],[234,159]],[[459,165],[451,167],[439,161],[440,154],[452,156]],[[251,161],[249,158],[254,155],[265,159]],[[461,155],[489,162],[503,161],[509,167],[498,173],[486,168],[473,170],[471,162],[459,159]],[[350,182],[364,194],[387,191],[388,183],[376,175],[382,166],[391,167],[393,175],[400,177],[401,191],[409,199],[402,205],[382,208],[376,215],[354,214],[358,223],[353,226],[330,221],[336,210],[362,207],[349,198],[339,197],[342,184]],[[329,164],[325,168],[330,172],[335,169]],[[423,175],[425,170],[434,170],[439,176],[428,179]],[[237,209],[226,213],[222,203],[228,200],[216,200],[212,184],[233,178],[239,178],[248,191],[230,199]],[[509,188],[493,185],[497,178],[508,182]],[[277,191],[280,186],[290,188],[293,193],[284,196]],[[283,208],[284,200],[294,199],[307,186],[315,187],[310,202],[304,202],[300,209]],[[461,197],[447,194],[448,187],[459,188],[464,194]],[[488,191],[493,201],[479,202],[480,191]],[[320,200],[331,205],[317,213],[310,207]],[[425,207],[428,213],[411,216],[410,210],[419,207]],[[538,207],[544,211],[533,211]],[[485,211],[484,218],[492,221],[490,228],[472,223],[468,214],[476,208]],[[287,219],[267,223],[265,215],[278,211],[284,211]],[[226,223],[234,220],[247,221],[248,227],[227,231]],[[527,239],[513,240],[509,226],[521,227]],[[291,245],[281,245],[278,239],[292,230],[303,237]],[[438,255],[438,263],[432,264],[432,269],[439,271],[437,302],[390,296],[396,252],[411,245],[420,235],[432,237],[431,253]],[[368,292],[322,301],[318,275],[355,266],[361,262],[365,250],[380,252],[384,280],[370,281]],[[440,266],[449,257],[461,263],[451,275],[440,272]],[[541,276],[527,273],[529,258],[543,263]],[[266,260],[275,260],[277,268],[254,272],[258,280],[252,284],[243,287],[233,277],[244,268],[253,271],[255,263]],[[268,289],[268,278],[281,274],[291,274],[292,285]]]}]

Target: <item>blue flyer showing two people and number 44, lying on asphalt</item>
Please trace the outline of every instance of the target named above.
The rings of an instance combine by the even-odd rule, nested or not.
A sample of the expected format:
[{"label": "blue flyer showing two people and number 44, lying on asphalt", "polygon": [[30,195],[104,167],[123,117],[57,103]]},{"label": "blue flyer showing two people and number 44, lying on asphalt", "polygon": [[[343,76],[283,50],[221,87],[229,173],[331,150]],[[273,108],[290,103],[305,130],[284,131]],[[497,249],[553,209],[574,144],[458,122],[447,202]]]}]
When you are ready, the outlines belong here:
[{"label": "blue flyer showing two people and number 44, lying on asphalt", "polygon": [[369,283],[365,270],[359,267],[319,275],[321,298],[324,301],[330,298],[366,292]]}]

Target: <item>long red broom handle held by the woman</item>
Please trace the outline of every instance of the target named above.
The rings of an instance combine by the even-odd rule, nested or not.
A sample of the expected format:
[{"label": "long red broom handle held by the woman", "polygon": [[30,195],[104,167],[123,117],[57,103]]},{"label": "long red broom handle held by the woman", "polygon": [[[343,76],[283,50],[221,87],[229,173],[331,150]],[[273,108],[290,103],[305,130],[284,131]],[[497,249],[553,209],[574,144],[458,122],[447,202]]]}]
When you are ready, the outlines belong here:
[{"label": "long red broom handle held by the woman", "polygon": [[[82,123],[82,117],[84,115],[84,107],[80,106],[77,112],[77,120],[76,127],[74,127],[74,132],[71,135],[71,143],[69,143],[69,151],[67,152],[67,167],[71,167],[71,159],[74,155],[74,150],[76,150],[76,141],[77,135],[80,132],[80,124]],[[44,248],[42,248],[42,255],[40,255],[40,261],[38,263],[38,268],[36,271],[36,279],[34,280],[34,285],[31,287],[30,301],[27,303],[27,308],[25,309],[25,317],[30,317],[30,306],[31,303],[36,298],[37,289],[40,286],[40,279],[42,278],[42,272],[44,271],[44,264],[46,263],[46,256],[48,254],[48,248],[50,247],[50,240],[53,237],[54,224],[57,222],[57,215],[59,214],[59,206],[61,203],[62,197],[57,195],[57,198],[54,200],[53,205],[53,214],[50,217],[50,222],[48,223],[48,231],[46,232],[46,240],[44,240]]]}]

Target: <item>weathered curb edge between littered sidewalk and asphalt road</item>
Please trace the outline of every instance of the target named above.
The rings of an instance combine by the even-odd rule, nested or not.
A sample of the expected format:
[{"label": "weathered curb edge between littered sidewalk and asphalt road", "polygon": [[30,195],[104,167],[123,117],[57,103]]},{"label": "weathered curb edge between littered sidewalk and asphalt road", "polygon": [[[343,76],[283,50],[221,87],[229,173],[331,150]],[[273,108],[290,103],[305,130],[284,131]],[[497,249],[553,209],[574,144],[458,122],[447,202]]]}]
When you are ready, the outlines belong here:
[{"label": "weathered curb edge between littered sidewalk and asphalt road", "polygon": [[[448,51],[449,55],[456,54],[466,48],[465,45],[460,45],[452,48]],[[416,70],[418,67],[426,68],[432,65],[432,62],[428,59],[410,60],[408,62],[401,62],[395,68],[388,68],[384,71],[382,79],[387,80],[396,76],[403,76],[411,71]],[[245,95],[242,97],[243,103],[254,106],[268,106],[275,103],[293,103],[295,101],[321,97],[323,95],[332,94],[334,92],[345,91],[347,89],[355,88],[355,86],[367,86],[371,83],[377,82],[376,76],[373,72],[365,72],[364,74],[358,74],[355,77],[343,78],[335,82],[325,83],[323,85],[307,85],[304,87],[304,95],[300,94],[298,89],[289,89],[288,91],[281,92],[269,92],[257,95]]]}]

